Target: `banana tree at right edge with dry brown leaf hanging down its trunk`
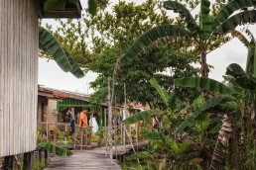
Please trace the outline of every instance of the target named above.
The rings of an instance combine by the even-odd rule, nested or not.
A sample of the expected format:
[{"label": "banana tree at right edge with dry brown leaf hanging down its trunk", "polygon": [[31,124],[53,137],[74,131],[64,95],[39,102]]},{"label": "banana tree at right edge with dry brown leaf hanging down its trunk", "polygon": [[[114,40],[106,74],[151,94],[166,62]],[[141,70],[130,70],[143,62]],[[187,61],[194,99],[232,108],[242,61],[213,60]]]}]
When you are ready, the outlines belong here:
[{"label": "banana tree at right edge with dry brown leaf hanging down its trunk", "polygon": [[[232,151],[230,169],[255,169],[256,145],[253,143],[255,135],[255,92],[256,79],[247,74],[238,64],[230,64],[226,75],[229,86],[216,83],[215,80],[203,77],[186,77],[176,79],[175,84],[182,87],[196,87],[218,93],[200,107],[199,113],[184,121],[178,131],[190,127],[201,114],[206,112],[225,115],[216,140],[210,169],[223,166],[226,159],[224,150]],[[230,140],[232,138],[232,140]],[[231,146],[229,144],[231,143]],[[242,145],[242,146],[241,146]],[[231,147],[231,148],[230,148]],[[242,155],[242,156],[241,156]],[[246,162],[246,163],[245,163]]]}]

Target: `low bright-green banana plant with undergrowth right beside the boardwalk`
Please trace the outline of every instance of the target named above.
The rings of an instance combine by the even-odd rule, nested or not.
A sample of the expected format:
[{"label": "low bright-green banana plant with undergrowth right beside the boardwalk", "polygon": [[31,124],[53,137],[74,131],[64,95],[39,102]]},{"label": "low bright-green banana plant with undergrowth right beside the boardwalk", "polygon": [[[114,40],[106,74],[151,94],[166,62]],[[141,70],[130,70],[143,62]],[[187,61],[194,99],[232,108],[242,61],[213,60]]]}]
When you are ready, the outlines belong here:
[{"label": "low bright-green banana plant with undergrowth right beside the boardwalk", "polygon": [[[181,101],[176,97],[176,95],[172,92],[168,94],[168,92],[161,88],[161,86],[158,84],[157,80],[155,78],[152,78],[150,80],[151,85],[157,90],[160,97],[162,98],[163,103],[166,105],[167,110],[161,111],[161,110],[148,110],[143,111],[138,114],[135,114],[126,120],[123,121],[123,124],[125,125],[132,125],[140,121],[144,121],[149,117],[154,117],[156,115],[164,117],[162,120],[164,121],[164,127],[160,129],[160,132],[147,132],[143,136],[145,139],[149,139],[150,142],[150,150],[147,151],[147,155],[150,155],[150,159],[156,160],[156,157],[158,157],[161,161],[161,166],[164,166],[165,169],[181,169],[186,166],[189,166],[190,168],[193,168],[194,166],[200,166],[198,164],[189,164],[189,162],[193,162],[193,157],[190,153],[194,149],[192,148],[192,141],[191,140],[183,140],[179,138],[186,137],[186,134],[183,133],[184,131],[187,131],[188,133],[196,133],[198,134],[198,131],[204,130],[206,127],[208,127],[209,119],[207,117],[198,117],[194,120],[196,123],[195,128],[191,128],[189,126],[185,127],[181,132],[177,131],[177,133],[174,133],[174,128],[181,125],[182,121],[180,110],[184,106],[181,106]],[[199,103],[202,103],[203,97],[199,97],[195,100],[193,103],[194,107],[195,105],[198,105]],[[189,108],[187,107],[189,110]],[[196,131],[197,130],[197,131]],[[145,153],[145,152],[144,152]],[[132,155],[133,158],[141,158],[140,153]],[[145,154],[142,154],[145,155]],[[155,157],[154,157],[155,156]],[[144,158],[144,157],[142,157]],[[144,159],[145,160],[145,159]],[[188,163],[185,165],[184,161],[188,161]],[[195,159],[194,159],[195,160]],[[177,163],[176,163],[177,162]],[[156,167],[155,167],[156,168]]]}]

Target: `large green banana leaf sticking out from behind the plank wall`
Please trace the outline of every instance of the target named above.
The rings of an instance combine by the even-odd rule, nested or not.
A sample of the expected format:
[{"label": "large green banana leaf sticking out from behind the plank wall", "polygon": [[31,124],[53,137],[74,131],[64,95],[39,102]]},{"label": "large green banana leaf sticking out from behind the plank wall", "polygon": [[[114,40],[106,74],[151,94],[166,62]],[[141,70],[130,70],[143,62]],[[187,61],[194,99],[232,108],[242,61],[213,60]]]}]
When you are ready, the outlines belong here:
[{"label": "large green banana leaf sticking out from behind the plank wall", "polygon": [[70,72],[77,78],[84,76],[83,71],[73,57],[61,46],[55,37],[43,27],[39,28],[39,47],[49,52],[64,72]]}]

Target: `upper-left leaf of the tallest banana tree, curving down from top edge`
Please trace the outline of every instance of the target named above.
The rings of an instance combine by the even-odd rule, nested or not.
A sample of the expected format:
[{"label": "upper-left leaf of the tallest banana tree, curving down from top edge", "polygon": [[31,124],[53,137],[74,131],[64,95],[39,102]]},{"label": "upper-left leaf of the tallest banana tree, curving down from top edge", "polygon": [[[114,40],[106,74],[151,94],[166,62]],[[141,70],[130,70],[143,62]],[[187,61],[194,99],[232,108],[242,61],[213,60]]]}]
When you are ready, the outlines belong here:
[{"label": "upper-left leaf of the tallest banana tree, curving down from top edge", "polygon": [[199,26],[196,24],[195,20],[192,18],[191,12],[180,2],[177,1],[164,1],[164,7],[167,10],[174,10],[176,13],[181,14],[186,18],[186,22],[188,23],[188,29],[191,32],[199,29]]}]

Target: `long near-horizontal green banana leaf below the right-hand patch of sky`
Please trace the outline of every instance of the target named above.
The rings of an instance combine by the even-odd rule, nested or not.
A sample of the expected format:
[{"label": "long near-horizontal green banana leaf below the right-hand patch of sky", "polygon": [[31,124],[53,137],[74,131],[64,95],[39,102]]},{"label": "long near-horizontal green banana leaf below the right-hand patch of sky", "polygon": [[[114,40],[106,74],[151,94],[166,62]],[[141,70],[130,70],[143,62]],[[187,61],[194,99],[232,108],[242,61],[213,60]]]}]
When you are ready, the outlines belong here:
[{"label": "long near-horizontal green banana leaf below the right-hand patch of sky", "polygon": [[200,88],[201,90],[216,92],[223,95],[235,94],[233,90],[231,90],[224,84],[219,83],[216,80],[205,78],[205,77],[178,78],[174,80],[174,84],[176,86],[182,86],[182,87]]}]

